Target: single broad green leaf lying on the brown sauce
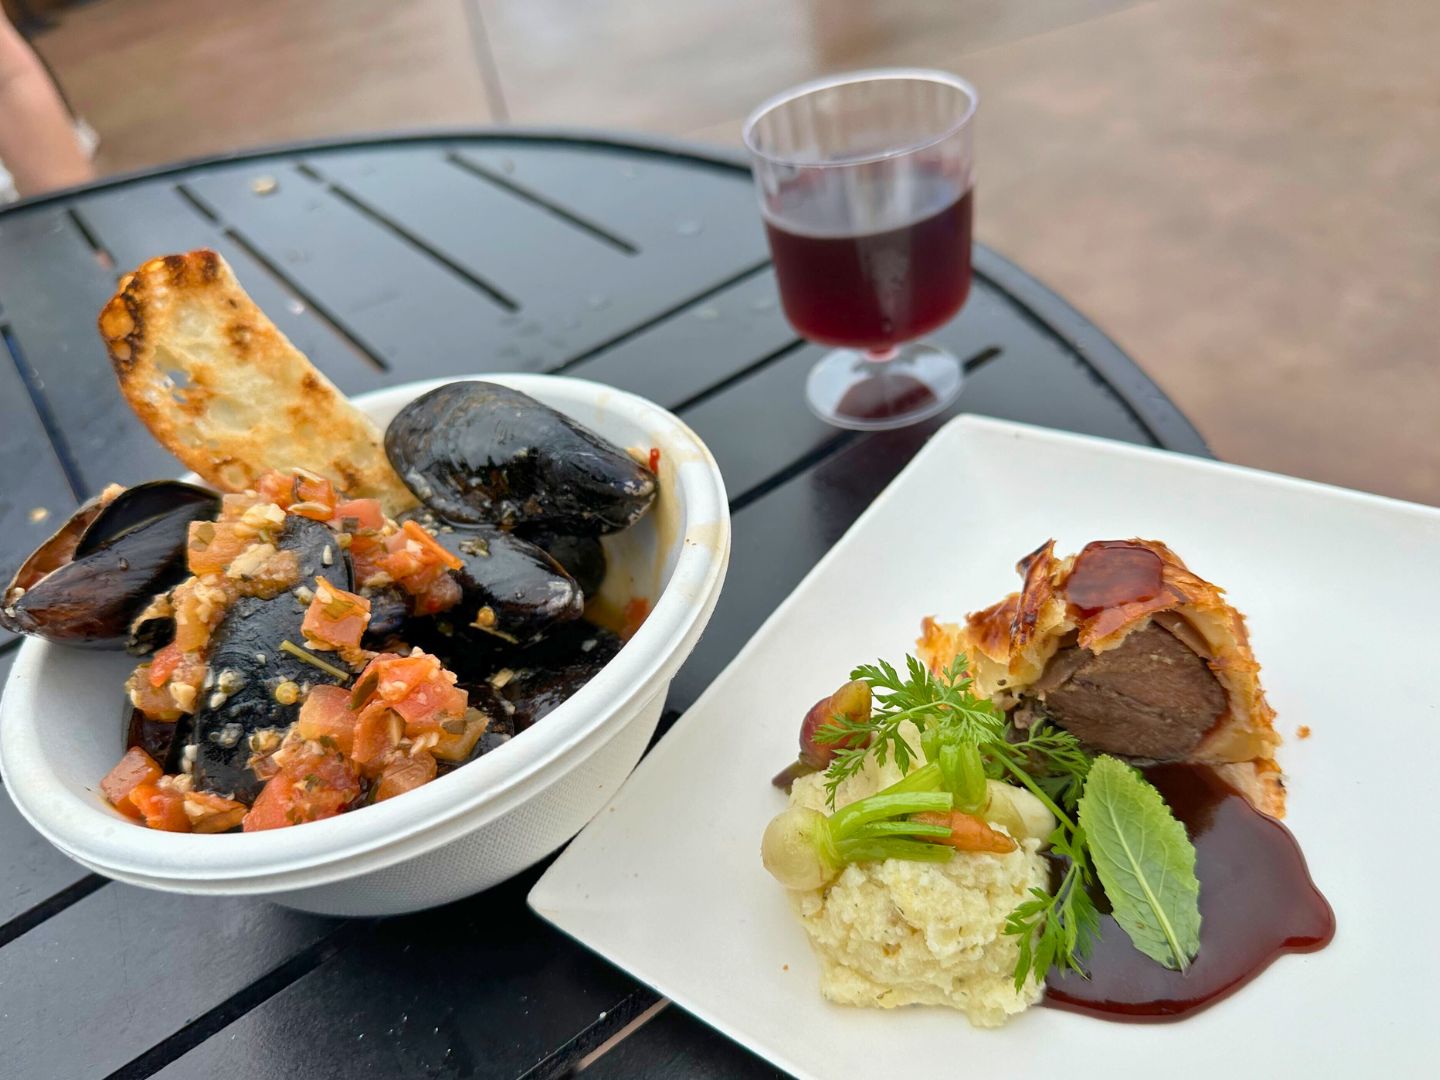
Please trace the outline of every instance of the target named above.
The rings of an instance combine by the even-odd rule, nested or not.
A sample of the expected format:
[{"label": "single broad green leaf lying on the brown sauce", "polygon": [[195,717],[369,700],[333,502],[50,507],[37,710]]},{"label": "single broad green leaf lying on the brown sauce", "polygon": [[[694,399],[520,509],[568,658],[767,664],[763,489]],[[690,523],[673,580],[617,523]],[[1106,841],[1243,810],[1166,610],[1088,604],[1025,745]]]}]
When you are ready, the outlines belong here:
[{"label": "single broad green leaf lying on the brown sauce", "polygon": [[1200,881],[1195,848],[1165,799],[1102,755],[1080,796],[1080,828],[1115,922],[1146,956],[1185,971],[1200,950]]}]

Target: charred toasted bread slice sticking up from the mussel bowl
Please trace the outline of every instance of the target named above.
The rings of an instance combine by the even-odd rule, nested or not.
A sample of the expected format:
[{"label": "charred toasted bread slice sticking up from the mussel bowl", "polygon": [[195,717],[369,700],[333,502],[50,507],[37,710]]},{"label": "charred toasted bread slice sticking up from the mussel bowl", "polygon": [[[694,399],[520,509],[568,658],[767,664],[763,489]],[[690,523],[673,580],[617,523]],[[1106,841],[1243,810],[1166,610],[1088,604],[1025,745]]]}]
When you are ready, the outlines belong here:
[{"label": "charred toasted bread slice sticking up from the mussel bowl", "polygon": [[387,514],[416,504],[359,409],[255,305],[213,251],[166,255],[99,312],[120,389],[150,432],[223,491],[295,467]]}]

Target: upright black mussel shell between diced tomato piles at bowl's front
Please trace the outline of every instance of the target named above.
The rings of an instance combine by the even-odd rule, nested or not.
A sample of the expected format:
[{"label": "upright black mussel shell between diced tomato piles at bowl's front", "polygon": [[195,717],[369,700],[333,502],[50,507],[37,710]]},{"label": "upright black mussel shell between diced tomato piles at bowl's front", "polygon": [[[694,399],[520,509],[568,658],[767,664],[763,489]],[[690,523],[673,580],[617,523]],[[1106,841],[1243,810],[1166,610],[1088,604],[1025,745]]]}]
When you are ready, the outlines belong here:
[{"label": "upright black mussel shell between diced tomato piles at bowl's front", "polygon": [[[295,552],[300,559],[297,589],[312,589],[315,577],[323,577],[338,589],[351,588],[350,559],[336,544],[334,533],[318,521],[287,517],[278,547]],[[340,557],[337,557],[340,556]],[[300,716],[300,704],[284,703],[276,690],[292,683],[304,693],[307,685],[341,684],[350,672],[334,652],[310,652],[301,635],[308,596],[282,592],[271,599],[242,596],[225,613],[225,619],[210,635],[209,672],[200,690],[194,716],[194,755],[192,772],[200,791],[229,795],[240,802],[252,802],[262,780],[249,768],[256,749],[252,739],[262,743],[262,732],[279,736]],[[327,664],[338,674],[317,667],[311,660],[282,648],[291,642],[311,658]]]}]

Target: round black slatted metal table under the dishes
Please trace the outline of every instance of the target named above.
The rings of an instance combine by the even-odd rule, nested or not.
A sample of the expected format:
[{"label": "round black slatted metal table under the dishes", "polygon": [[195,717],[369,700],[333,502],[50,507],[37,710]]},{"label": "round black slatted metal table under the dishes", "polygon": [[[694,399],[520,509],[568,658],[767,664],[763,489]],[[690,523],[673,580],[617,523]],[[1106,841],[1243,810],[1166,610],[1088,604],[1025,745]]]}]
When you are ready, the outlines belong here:
[{"label": "round black slatted metal table under the dishes", "polygon": [[[505,130],[183,164],[0,212],[0,580],[78,500],[179,471],[122,403],[95,314],[118,272],[199,246],[347,392],[564,372],[694,426],[732,492],[734,552],[661,730],[949,419],[858,435],[806,412],[816,348],[785,323],[726,151]],[[952,415],[1205,454],[1064,301],[984,248],[975,269],[936,336],[966,357]],[[0,678],[16,647],[0,639]],[[107,883],[0,798],[0,1074],[773,1073],[533,916],[541,870],[344,922]]]}]

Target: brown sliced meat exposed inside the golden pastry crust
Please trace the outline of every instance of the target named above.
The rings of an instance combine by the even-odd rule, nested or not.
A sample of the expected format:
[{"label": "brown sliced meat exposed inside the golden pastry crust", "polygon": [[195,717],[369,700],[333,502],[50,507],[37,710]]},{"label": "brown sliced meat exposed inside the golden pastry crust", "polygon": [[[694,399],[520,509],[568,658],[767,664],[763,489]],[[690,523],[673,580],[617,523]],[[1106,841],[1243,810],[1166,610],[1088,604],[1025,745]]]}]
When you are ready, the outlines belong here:
[{"label": "brown sliced meat exposed inside the golden pastry crust", "polygon": [[1099,655],[1061,649],[1050,661],[1057,664],[1068,678],[1041,680],[1045,713],[1106,753],[1181,760],[1225,711],[1225,691],[1205,661],[1156,624]]}]

